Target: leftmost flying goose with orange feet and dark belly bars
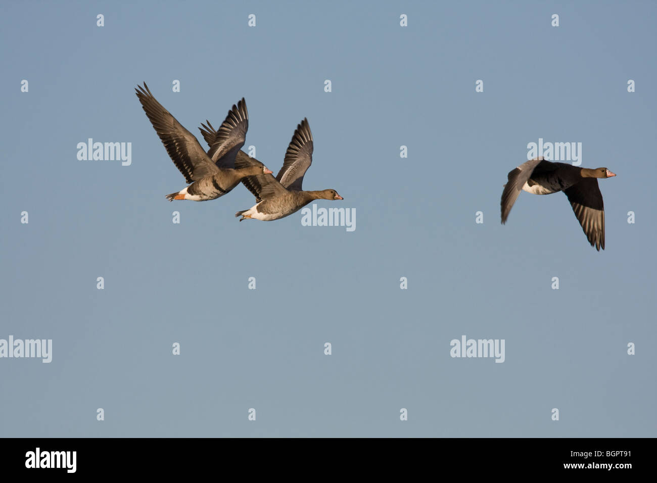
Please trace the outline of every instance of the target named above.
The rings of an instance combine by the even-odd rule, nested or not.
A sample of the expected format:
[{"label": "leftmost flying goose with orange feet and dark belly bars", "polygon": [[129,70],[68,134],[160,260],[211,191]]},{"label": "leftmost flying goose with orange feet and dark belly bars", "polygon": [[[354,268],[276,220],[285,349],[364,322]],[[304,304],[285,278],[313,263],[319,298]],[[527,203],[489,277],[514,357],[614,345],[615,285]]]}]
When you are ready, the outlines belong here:
[{"label": "leftmost flying goose with orange feet and dark belly bars", "polygon": [[212,129],[214,137],[206,153],[196,137],[156,101],[146,83],[144,87],[137,87],[139,102],[173,164],[183,173],[185,181],[191,183],[181,191],[166,195],[168,200],[214,200],[231,191],[246,176],[271,173],[264,164],[251,158],[242,162],[240,168],[235,168],[235,158],[244,146],[248,129],[248,112],[243,97],[237,106],[233,104],[221,127],[217,131]]}]

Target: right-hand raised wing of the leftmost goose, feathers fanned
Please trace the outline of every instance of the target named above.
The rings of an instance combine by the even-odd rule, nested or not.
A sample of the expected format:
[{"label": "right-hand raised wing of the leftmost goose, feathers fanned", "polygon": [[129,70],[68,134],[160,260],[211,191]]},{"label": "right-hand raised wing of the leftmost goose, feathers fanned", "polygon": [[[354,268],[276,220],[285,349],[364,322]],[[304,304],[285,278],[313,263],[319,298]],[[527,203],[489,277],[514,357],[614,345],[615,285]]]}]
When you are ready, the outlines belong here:
[{"label": "right-hand raised wing of the leftmost goose, feathers fanned", "polygon": [[244,97],[237,105],[233,104],[226,119],[216,131],[210,121],[206,120],[206,122],[207,126],[201,124],[203,127],[198,129],[210,147],[208,156],[219,168],[234,168],[235,156],[238,150],[244,146],[248,130],[248,111]]}]

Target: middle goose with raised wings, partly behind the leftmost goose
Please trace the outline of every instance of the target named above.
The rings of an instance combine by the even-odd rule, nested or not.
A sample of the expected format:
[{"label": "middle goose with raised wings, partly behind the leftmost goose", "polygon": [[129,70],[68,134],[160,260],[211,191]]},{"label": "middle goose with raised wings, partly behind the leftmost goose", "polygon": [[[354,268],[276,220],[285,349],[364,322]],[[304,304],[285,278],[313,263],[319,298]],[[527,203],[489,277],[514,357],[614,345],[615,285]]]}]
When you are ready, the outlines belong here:
[{"label": "middle goose with raised wings, partly behind the leftmost goose", "polygon": [[[243,162],[243,157],[238,156],[235,166],[241,166]],[[276,177],[264,174],[242,179],[244,186],[256,196],[256,204],[235,216],[241,215],[240,221],[248,218],[271,221],[291,215],[312,200],[342,200],[334,189],[302,191],[304,175],[312,162],[313,135],[308,120],[304,119],[294,131],[285,152],[283,168]]]}]

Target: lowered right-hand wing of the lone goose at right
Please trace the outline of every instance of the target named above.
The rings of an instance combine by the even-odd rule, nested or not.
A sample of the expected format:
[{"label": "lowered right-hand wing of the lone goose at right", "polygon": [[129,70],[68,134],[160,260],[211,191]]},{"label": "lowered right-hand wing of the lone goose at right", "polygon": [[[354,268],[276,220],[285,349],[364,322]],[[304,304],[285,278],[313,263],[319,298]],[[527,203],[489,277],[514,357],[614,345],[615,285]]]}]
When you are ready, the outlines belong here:
[{"label": "lowered right-hand wing of the lone goose at right", "polygon": [[582,178],[579,183],[564,189],[581,229],[591,246],[604,250],[604,203],[596,178]]}]

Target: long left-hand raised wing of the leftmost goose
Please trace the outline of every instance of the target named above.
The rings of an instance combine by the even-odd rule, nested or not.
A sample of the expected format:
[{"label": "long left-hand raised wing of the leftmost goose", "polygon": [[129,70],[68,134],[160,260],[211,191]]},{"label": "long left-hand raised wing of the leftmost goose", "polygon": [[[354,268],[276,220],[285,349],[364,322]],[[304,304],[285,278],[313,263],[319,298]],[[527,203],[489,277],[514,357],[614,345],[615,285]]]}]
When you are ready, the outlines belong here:
[{"label": "long left-hand raised wing of the leftmost goose", "polygon": [[135,89],[137,98],[146,112],[150,124],[153,125],[155,132],[164,143],[173,164],[185,176],[185,181],[191,183],[219,172],[217,166],[198,144],[198,139],[177,122],[162,104],[158,103],[146,83],[144,83],[144,87],[141,85],[137,87],[138,89]]}]

